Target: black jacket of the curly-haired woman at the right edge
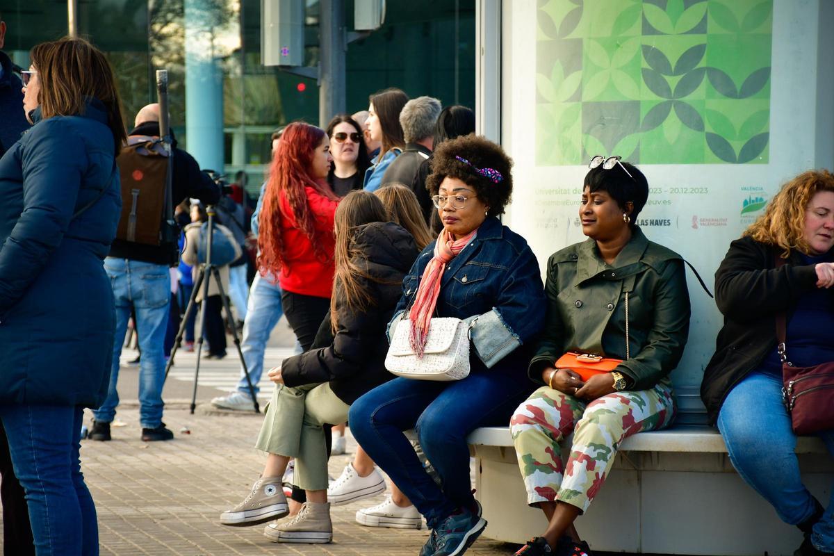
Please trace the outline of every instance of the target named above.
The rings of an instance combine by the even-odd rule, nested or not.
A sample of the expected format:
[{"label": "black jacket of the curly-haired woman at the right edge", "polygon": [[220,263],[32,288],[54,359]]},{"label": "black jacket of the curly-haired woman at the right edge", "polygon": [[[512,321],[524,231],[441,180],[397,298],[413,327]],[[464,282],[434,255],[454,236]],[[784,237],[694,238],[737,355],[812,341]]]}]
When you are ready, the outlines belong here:
[{"label": "black jacket of the curly-haired woman at the right edge", "polygon": [[701,382],[710,423],[716,422],[731,389],[776,349],[776,313],[790,315],[801,295],[816,288],[815,265],[801,264],[799,255],[791,253],[776,268],[776,253],[754,239],[736,239],[716,271],[716,303],[724,326]]}]

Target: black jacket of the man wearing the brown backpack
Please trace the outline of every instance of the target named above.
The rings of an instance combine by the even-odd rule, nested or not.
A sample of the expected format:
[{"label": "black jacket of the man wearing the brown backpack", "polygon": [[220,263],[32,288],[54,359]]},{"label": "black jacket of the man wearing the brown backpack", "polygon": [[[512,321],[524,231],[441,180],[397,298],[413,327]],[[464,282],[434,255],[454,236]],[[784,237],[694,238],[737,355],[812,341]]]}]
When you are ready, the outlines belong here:
[{"label": "black jacket of the man wearing the brown backpack", "polygon": [[[140,123],[128,135],[148,135],[150,137],[159,135],[159,124],[157,122]],[[207,173],[200,170],[199,164],[194,158],[177,148],[177,139],[171,130],[173,145],[173,179],[172,194],[173,206],[176,207],[186,198],[198,198],[205,204],[214,204],[220,200],[220,188],[214,183]],[[152,245],[140,245],[129,243],[120,239],[113,240],[113,247],[110,248],[109,257],[129,258],[133,261],[145,263],[168,264],[170,263],[171,248],[166,246],[154,247]]]}]

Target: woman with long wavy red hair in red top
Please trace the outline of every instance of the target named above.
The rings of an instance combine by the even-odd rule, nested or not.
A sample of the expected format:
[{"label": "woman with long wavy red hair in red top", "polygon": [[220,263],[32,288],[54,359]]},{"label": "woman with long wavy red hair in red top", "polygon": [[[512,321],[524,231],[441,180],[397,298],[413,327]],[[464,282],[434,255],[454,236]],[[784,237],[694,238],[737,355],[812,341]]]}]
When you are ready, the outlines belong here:
[{"label": "woman with long wavy red hair in red top", "polygon": [[330,308],[333,219],[339,197],[327,184],[327,133],[308,123],[284,129],[259,224],[258,270],[278,278],[289,326],[307,351]]}]

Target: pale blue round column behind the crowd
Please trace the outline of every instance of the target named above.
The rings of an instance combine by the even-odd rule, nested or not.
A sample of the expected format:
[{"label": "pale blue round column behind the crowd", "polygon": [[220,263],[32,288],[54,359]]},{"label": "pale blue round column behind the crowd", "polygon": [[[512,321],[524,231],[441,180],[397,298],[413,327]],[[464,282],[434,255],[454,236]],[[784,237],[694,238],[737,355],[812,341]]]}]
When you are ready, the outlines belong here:
[{"label": "pale blue round column behind the crowd", "polygon": [[186,148],[200,165],[223,172],[223,71],[214,55],[214,3],[185,0]]}]

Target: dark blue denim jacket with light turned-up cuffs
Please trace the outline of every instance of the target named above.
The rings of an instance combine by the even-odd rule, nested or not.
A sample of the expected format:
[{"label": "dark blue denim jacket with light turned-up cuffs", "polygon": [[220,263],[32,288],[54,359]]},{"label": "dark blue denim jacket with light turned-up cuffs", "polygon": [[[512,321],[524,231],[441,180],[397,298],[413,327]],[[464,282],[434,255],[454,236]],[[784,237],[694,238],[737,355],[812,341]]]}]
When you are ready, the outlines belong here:
[{"label": "dark blue denim jacket with light turned-up cuffs", "polygon": [[[435,242],[426,246],[403,280],[403,297],[389,323],[389,341],[405,310],[414,303],[434,250]],[[446,266],[435,316],[469,322],[475,353],[485,367],[492,368],[539,333],[545,305],[535,254],[525,238],[490,217]]]}]

